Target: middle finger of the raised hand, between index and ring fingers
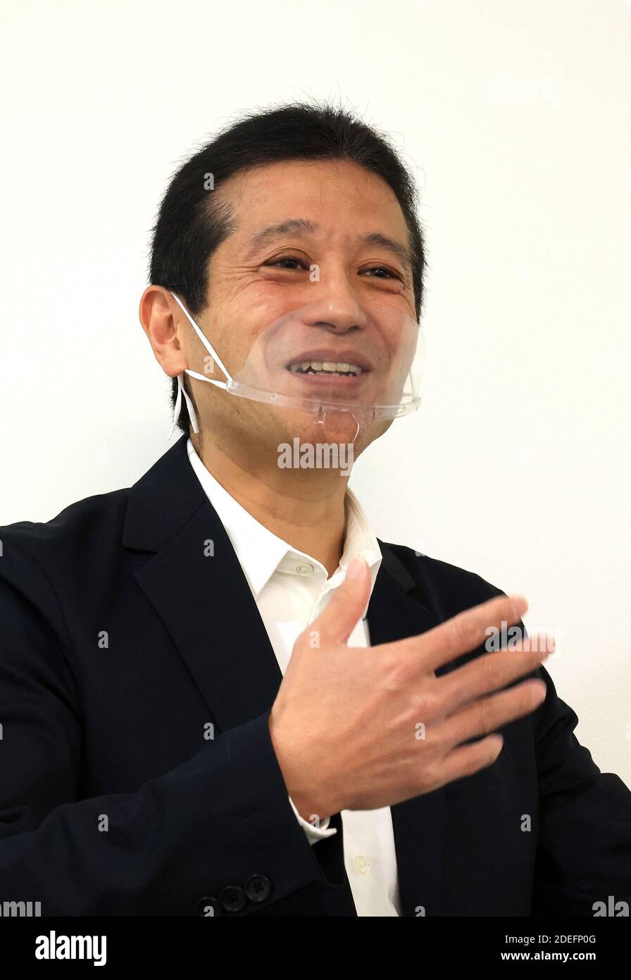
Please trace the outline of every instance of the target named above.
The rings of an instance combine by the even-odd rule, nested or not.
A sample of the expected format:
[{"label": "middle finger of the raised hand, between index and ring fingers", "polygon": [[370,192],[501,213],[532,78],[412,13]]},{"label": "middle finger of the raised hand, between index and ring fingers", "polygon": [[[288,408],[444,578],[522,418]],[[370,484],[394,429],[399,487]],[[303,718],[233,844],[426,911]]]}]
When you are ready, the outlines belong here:
[{"label": "middle finger of the raised hand, between index and ring fingers", "polygon": [[483,695],[499,691],[518,677],[531,673],[548,659],[553,650],[554,643],[550,643],[547,634],[535,633],[524,638],[515,650],[483,654],[443,674],[436,679],[436,689],[443,699],[445,714],[452,714]]}]

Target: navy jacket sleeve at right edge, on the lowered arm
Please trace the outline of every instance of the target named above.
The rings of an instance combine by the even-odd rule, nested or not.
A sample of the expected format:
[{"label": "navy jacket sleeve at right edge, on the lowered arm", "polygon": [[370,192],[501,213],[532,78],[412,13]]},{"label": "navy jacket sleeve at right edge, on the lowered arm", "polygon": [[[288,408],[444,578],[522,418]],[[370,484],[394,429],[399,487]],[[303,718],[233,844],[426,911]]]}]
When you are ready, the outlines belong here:
[{"label": "navy jacket sleeve at right edge, on the lowered arm", "polygon": [[536,675],[548,693],[532,715],[540,804],[532,914],[631,907],[631,792],[577,741],[578,718],[546,669]]}]

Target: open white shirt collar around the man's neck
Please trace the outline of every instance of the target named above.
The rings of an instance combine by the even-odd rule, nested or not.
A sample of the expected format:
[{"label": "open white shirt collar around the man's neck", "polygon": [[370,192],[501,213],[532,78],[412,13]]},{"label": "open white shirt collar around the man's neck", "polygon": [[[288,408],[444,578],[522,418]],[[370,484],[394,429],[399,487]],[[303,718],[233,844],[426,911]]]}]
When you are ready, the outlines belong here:
[{"label": "open white shirt collar around the man's neck", "polygon": [[[255,517],[238,504],[227,490],[214,478],[212,473],[203,466],[189,439],[187,451],[191,466],[202,484],[210,504],[216,511],[226,534],[232,542],[237,558],[248,579],[254,599],[267,585],[272,575],[277,571],[295,572],[296,565],[303,562],[319,566],[323,565],[304,552],[293,548],[287,541],[277,537],[267,527],[264,527]],[[343,577],[345,569],[354,555],[360,555],[371,570],[371,593],[377,578],[377,572],[382,564],[382,553],[379,542],[371,530],[368,518],[361,508],[354,493],[346,488],[346,535],[339,568],[332,576],[331,585],[337,584],[336,579]]]}]

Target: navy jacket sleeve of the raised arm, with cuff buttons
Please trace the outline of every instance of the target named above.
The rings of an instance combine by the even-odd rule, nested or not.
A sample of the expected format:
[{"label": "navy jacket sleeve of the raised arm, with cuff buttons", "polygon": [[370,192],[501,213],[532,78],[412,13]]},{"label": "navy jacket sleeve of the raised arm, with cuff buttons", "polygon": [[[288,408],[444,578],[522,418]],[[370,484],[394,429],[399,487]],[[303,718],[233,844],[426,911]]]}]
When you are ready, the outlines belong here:
[{"label": "navy jacket sleeve of the raised arm, with cuff buttons", "polygon": [[[44,915],[195,915],[268,877],[275,903],[321,872],[267,713],[130,794],[81,799],[80,678],[45,571],[0,558],[0,898]],[[158,722],[159,723],[159,719]]]}]

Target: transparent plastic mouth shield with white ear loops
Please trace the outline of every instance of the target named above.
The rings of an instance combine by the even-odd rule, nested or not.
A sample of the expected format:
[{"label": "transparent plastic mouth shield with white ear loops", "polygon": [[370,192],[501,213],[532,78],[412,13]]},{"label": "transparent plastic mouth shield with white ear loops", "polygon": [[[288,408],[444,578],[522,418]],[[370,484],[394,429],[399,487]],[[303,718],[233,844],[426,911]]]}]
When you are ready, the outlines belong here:
[{"label": "transparent plastic mouth shield with white ear loops", "polygon": [[[425,343],[418,321],[402,304],[373,301],[356,320],[345,314],[342,322],[326,298],[314,300],[258,332],[245,363],[231,371],[180,298],[171,295],[209,354],[204,373],[190,368],[186,373],[231,395],[301,414],[310,420],[316,441],[356,442],[376,420],[407,416],[420,405]],[[199,431],[180,374],[171,434],[182,398],[193,430]]]}]

